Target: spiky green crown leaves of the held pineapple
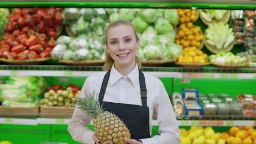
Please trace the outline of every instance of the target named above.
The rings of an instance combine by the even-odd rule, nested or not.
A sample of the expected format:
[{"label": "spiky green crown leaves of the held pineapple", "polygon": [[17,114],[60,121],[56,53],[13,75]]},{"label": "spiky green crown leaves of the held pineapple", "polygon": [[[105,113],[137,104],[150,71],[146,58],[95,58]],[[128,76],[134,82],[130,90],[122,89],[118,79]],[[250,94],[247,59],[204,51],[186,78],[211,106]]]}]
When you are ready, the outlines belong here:
[{"label": "spiky green crown leaves of the held pineapple", "polygon": [[85,91],[85,98],[76,98],[78,108],[87,113],[88,115],[91,115],[91,117],[95,118],[97,115],[101,114],[103,112],[102,106],[99,104],[99,96],[94,97],[95,91],[93,90],[93,93],[87,93]]}]

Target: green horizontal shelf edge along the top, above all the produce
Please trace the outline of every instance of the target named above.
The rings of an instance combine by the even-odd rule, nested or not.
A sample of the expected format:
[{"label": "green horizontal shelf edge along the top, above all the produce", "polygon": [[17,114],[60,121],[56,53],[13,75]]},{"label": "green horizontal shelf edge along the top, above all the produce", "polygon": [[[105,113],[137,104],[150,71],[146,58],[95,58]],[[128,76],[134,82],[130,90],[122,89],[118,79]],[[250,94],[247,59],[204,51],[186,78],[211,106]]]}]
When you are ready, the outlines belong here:
[{"label": "green horizontal shelf edge along the top, above all the produce", "polygon": [[91,8],[197,8],[255,10],[256,5],[209,3],[125,3],[125,2],[0,2],[2,8],[15,7],[91,7]]}]

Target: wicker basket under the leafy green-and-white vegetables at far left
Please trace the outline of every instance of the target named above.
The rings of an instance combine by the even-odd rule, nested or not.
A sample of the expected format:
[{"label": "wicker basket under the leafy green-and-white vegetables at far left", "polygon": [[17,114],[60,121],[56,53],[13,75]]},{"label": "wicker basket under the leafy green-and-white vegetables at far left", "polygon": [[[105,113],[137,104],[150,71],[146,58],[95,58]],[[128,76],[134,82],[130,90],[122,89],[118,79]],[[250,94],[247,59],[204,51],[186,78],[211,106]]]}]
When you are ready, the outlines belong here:
[{"label": "wicker basket under the leafy green-and-white vegetables at far left", "polygon": [[35,107],[3,107],[0,106],[0,116],[5,117],[37,117],[39,106]]}]

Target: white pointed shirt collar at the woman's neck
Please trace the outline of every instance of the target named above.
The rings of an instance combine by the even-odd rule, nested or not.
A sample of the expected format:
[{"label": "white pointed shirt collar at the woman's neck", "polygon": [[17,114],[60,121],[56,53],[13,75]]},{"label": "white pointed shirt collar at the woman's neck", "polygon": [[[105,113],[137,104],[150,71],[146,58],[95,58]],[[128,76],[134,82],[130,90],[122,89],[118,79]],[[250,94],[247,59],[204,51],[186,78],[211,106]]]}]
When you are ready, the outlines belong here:
[{"label": "white pointed shirt collar at the woman's neck", "polygon": [[[120,80],[121,77],[123,77],[123,75],[121,75],[117,71],[117,69],[115,69],[113,64],[111,68],[110,76],[109,76],[110,86],[114,85],[118,80]],[[139,79],[139,69],[137,64],[136,64],[136,67],[130,72],[130,74],[127,75],[127,77],[130,78],[134,88]]]}]

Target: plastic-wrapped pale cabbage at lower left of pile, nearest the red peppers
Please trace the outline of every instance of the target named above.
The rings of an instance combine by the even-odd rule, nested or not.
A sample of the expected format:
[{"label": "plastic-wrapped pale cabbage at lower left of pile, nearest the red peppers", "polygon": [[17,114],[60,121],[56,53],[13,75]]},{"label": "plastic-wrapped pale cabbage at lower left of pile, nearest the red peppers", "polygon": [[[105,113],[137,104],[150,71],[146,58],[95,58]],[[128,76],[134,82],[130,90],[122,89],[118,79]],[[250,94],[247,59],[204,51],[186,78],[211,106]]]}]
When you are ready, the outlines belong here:
[{"label": "plastic-wrapped pale cabbage at lower left of pile, nearest the red peppers", "polygon": [[51,59],[53,60],[59,60],[62,59],[64,55],[64,51],[67,49],[67,46],[65,44],[58,44],[56,45],[53,50],[51,51]]}]

